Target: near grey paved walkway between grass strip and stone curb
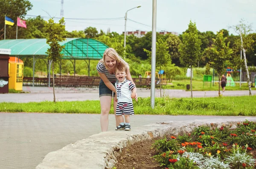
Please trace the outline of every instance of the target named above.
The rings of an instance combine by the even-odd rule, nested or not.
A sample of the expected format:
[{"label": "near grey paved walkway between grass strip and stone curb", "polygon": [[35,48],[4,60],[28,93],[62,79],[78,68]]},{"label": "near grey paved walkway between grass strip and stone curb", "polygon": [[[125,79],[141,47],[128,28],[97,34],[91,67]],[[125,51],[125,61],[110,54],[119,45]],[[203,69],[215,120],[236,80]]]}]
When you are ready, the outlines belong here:
[{"label": "near grey paved walkway between grass strip and stone curb", "polygon": [[[101,132],[99,118],[99,114],[0,113],[0,169],[35,169],[49,152]],[[237,117],[134,115],[131,127],[216,118]],[[114,129],[115,119],[111,114],[109,130]]]}]

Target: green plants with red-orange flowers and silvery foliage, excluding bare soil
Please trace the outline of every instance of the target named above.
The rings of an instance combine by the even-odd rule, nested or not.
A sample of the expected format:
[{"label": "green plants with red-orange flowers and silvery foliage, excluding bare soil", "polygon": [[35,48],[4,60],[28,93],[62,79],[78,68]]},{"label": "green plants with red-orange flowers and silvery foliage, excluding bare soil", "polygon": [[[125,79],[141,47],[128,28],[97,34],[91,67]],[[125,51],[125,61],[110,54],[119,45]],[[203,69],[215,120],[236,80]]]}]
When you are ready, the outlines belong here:
[{"label": "green plants with red-orange flowers and silvery foliage, excluding bare soil", "polygon": [[[233,128],[233,129],[231,129]],[[192,133],[154,142],[154,159],[166,169],[254,169],[256,123],[196,127]]]}]

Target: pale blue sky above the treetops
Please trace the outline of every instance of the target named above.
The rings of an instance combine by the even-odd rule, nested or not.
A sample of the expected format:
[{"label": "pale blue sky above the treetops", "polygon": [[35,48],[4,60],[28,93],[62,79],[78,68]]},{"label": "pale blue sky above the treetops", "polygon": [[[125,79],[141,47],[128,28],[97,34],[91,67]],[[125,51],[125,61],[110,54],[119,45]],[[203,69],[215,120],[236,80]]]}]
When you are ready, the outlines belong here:
[{"label": "pale blue sky above the treetops", "polygon": [[[41,15],[44,20],[61,14],[61,0],[29,0],[33,7],[27,15]],[[141,5],[140,8],[134,8]],[[91,26],[121,34],[126,31],[151,31],[152,0],[64,0],[63,9],[67,31],[79,31]],[[26,16],[26,18],[31,16]],[[79,19],[79,20],[78,20]],[[182,34],[189,21],[195,22],[201,32],[233,28],[244,19],[256,32],[256,0],[157,0],[157,31]]]}]

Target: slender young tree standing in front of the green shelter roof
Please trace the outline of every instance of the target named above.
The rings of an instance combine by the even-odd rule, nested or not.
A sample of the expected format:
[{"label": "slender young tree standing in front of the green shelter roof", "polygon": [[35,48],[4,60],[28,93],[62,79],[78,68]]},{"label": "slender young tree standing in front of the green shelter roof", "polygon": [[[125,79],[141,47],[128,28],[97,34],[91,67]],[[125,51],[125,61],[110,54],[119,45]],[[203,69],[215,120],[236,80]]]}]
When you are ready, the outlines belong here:
[{"label": "slender young tree standing in front of the green shelter roof", "polygon": [[45,25],[46,32],[48,33],[47,44],[49,44],[50,48],[47,49],[47,59],[52,60],[52,82],[53,82],[53,101],[55,100],[55,86],[54,86],[54,63],[58,62],[63,54],[61,54],[64,46],[61,46],[59,42],[63,42],[65,40],[65,25],[64,25],[64,17],[59,20],[59,23],[54,23],[53,19],[49,19],[48,23]]}]

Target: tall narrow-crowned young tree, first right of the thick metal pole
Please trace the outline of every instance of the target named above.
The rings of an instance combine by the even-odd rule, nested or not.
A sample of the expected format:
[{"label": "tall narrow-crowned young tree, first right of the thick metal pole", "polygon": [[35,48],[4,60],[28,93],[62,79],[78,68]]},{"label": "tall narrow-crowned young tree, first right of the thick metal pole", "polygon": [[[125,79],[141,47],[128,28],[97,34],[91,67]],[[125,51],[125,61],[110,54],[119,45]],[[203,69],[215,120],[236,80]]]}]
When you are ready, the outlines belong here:
[{"label": "tall narrow-crowned young tree, first right of the thick metal pole", "polygon": [[198,30],[195,23],[190,20],[189,28],[187,32],[182,34],[182,43],[179,45],[180,51],[180,63],[186,68],[191,69],[190,74],[190,88],[191,88],[191,98],[193,98],[192,93],[192,67],[196,66],[199,59],[201,59],[201,40],[198,38]]}]

